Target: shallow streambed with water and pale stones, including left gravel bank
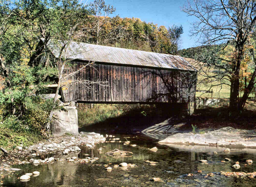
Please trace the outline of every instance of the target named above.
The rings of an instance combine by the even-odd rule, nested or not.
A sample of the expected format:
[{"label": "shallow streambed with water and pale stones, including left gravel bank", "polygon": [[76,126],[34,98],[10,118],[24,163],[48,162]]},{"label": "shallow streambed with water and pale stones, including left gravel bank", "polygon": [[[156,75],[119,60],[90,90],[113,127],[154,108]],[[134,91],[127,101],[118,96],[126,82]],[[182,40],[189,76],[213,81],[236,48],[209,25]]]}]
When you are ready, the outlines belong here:
[{"label": "shallow streambed with water and pale stones, including left gravel bank", "polygon": [[[193,150],[184,148],[191,145],[172,147],[160,145],[158,141],[142,134],[81,133],[52,138],[1,158],[1,184],[27,187],[255,185],[254,152],[226,147],[216,150],[216,146],[209,145]],[[125,155],[126,152],[129,154]],[[24,175],[30,175],[28,181],[20,180]]]}]

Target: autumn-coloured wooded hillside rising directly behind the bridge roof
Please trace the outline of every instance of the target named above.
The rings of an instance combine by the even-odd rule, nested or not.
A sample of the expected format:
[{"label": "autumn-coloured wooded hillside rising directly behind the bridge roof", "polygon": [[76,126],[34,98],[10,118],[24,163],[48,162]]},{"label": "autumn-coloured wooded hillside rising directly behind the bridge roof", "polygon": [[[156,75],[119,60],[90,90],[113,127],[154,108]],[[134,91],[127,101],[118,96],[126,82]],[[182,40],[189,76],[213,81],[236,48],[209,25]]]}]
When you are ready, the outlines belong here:
[{"label": "autumn-coloured wooded hillside rising directly behind the bridge roof", "polygon": [[182,26],[157,26],[139,18],[90,16],[78,41],[120,48],[176,54]]}]

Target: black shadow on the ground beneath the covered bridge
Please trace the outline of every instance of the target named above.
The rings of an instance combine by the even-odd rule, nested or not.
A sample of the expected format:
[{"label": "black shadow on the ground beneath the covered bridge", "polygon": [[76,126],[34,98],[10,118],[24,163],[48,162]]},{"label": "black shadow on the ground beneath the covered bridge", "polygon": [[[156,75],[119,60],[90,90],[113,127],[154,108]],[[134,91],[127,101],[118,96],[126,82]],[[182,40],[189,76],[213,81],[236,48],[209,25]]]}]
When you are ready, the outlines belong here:
[{"label": "black shadow on the ground beneath the covered bridge", "polygon": [[84,126],[79,129],[79,132],[136,134],[165,120],[170,125],[185,122],[184,116],[185,112],[180,107],[159,104],[151,107],[147,114],[141,113],[141,109],[133,109],[125,115]]}]

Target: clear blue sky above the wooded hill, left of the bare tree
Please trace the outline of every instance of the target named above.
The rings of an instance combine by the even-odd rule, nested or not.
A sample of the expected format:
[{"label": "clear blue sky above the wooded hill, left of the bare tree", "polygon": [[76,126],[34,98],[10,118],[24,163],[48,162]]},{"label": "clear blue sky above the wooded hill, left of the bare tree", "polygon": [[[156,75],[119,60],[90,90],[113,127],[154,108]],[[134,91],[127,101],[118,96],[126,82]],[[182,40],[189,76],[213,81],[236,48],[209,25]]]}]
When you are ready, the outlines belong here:
[{"label": "clear blue sky above the wooded hill, left of the bare tree", "polygon": [[[85,0],[88,4],[93,0]],[[157,23],[158,26],[168,28],[173,24],[183,26],[184,33],[181,36],[180,49],[196,47],[200,44],[190,37],[190,23],[193,17],[187,17],[181,11],[181,7],[186,4],[186,0],[105,0],[106,4],[113,5],[116,11],[111,17],[119,15],[124,17],[140,18],[142,21]]]}]

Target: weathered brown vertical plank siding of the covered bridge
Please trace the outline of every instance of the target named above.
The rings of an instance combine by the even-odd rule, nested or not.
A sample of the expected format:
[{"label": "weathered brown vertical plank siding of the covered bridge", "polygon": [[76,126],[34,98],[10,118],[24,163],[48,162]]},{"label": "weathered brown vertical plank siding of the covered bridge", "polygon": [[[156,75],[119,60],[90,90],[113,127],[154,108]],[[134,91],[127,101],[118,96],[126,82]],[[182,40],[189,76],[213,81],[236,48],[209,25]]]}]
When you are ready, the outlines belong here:
[{"label": "weathered brown vertical plank siding of the covered bridge", "polygon": [[[85,65],[72,62],[66,73]],[[194,100],[196,72],[119,65],[93,64],[69,77],[63,86],[65,102],[154,103]],[[73,82],[78,80],[77,82]],[[81,84],[79,80],[101,82]],[[104,83],[105,82],[105,85]]]}]

